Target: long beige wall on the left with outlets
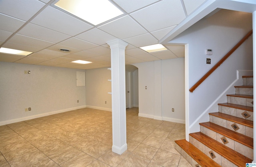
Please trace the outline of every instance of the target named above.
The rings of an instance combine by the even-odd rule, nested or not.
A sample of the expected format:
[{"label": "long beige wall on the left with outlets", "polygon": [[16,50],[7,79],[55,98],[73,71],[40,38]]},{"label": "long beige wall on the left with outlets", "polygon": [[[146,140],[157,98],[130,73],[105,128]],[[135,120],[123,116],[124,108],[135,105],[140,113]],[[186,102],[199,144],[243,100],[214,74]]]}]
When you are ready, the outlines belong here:
[{"label": "long beige wall on the left with outlets", "polygon": [[85,107],[76,71],[84,70],[0,62],[0,125]]}]

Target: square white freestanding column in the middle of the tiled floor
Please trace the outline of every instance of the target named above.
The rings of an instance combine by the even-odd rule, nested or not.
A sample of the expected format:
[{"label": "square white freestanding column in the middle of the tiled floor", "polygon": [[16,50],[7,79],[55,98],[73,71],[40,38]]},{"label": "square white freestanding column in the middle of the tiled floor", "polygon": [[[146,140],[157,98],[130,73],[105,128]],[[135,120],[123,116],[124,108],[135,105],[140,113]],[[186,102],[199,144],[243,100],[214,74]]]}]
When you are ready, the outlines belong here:
[{"label": "square white freestanding column in the middle of the tiled floor", "polygon": [[125,47],[128,43],[116,39],[107,42],[111,49],[112,87],[112,136],[114,153],[127,150],[126,143],[126,98],[125,98]]}]

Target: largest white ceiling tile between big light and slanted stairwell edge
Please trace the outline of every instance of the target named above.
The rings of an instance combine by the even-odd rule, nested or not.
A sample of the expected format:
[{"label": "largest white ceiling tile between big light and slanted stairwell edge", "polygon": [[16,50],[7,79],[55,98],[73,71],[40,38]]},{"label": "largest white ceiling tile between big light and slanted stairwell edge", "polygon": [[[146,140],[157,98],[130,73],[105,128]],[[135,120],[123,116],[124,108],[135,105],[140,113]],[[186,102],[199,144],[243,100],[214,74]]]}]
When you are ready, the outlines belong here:
[{"label": "largest white ceiling tile between big light and slanted stairwell edge", "polygon": [[177,25],[186,17],[180,0],[163,0],[130,15],[150,32]]}]

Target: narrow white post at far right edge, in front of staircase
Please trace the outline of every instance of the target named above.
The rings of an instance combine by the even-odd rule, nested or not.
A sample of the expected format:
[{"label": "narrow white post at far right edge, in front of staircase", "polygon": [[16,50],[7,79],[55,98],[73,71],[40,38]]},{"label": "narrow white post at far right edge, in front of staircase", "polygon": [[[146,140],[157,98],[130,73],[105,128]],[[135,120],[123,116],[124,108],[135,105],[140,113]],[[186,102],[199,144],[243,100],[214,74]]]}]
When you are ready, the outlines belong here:
[{"label": "narrow white post at far right edge, in front of staircase", "polygon": [[[256,11],[252,13],[252,45],[253,45],[253,101],[256,100]],[[253,108],[253,112],[256,113],[256,107]],[[253,114],[253,163],[256,162],[256,114]]]}]

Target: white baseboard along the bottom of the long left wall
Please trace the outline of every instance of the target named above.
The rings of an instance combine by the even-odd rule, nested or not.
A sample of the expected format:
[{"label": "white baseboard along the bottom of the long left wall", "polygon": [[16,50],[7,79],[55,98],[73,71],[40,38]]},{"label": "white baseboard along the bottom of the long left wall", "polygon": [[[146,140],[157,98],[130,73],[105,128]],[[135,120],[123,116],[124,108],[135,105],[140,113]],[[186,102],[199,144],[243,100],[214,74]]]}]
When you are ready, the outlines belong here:
[{"label": "white baseboard along the bottom of the long left wall", "polygon": [[6,120],[6,121],[0,122],[0,126],[7,125],[7,124],[12,124],[12,123],[16,123],[16,122],[21,122],[21,121],[26,121],[26,120],[31,120],[31,119],[35,119],[35,118],[40,118],[40,117],[43,117],[43,116],[50,116],[50,115],[53,115],[53,114],[59,114],[59,113],[62,113],[62,112],[77,110],[77,109],[80,109],[80,108],[86,108],[86,106],[66,108],[66,109],[63,109],[63,110],[46,112],[46,113],[43,113],[43,114],[37,114],[37,115],[32,115],[32,116],[27,116],[27,117],[22,117],[22,118],[16,118],[16,119],[12,119],[12,120]]}]

